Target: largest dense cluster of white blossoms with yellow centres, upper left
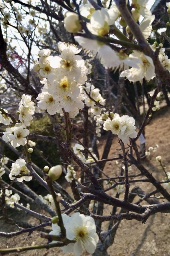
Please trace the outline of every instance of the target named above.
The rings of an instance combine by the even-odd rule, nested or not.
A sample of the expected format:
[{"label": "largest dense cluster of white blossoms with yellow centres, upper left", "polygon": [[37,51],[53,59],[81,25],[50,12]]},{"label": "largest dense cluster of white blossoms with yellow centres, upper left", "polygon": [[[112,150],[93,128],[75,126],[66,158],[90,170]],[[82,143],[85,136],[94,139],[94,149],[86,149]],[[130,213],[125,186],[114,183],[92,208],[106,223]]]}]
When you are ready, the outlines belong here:
[{"label": "largest dense cluster of white blossoms with yellow centres, upper left", "polygon": [[79,109],[84,108],[86,95],[82,85],[87,80],[87,67],[81,56],[81,49],[76,46],[58,43],[60,56],[50,56],[50,50],[40,50],[38,63],[34,71],[44,84],[42,93],[38,94],[38,107],[47,110],[50,115],[68,112],[74,118]]}]

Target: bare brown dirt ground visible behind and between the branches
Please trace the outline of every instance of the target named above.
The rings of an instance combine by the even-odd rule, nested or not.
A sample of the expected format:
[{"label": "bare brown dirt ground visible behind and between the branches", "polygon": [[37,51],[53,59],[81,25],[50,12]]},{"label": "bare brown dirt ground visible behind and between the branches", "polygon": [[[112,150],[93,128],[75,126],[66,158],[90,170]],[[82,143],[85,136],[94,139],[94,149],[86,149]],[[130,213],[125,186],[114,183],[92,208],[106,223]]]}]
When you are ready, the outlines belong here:
[{"label": "bare brown dirt ground visible behind and between the branches", "polygon": [[[162,157],[162,164],[166,167],[166,171],[170,171],[170,108],[163,107],[161,110],[153,114],[153,119],[149,125],[145,128],[146,136],[146,147],[155,147],[156,144],[159,145],[157,152],[151,152],[151,156],[147,156],[142,160],[142,164],[147,167],[147,169],[153,174],[157,179],[163,180],[164,173],[161,167],[158,166],[155,160],[156,156]],[[113,142],[113,146],[110,151],[109,157],[115,157],[119,152],[116,150],[119,148],[117,139]],[[102,152],[102,145],[100,145],[100,152]],[[104,169],[105,173],[111,177],[111,175],[119,174],[120,167],[123,166],[121,161],[118,165],[112,162],[108,162]],[[136,169],[132,166],[132,171],[130,174],[135,173]],[[138,185],[145,192],[150,191],[150,186],[148,183],[142,184],[132,184],[130,185],[130,190],[132,187]],[[170,191],[169,191],[170,192]],[[123,193],[122,193],[123,194]],[[113,192],[113,195],[114,192]],[[160,200],[161,201],[161,200]],[[145,204],[147,204],[145,202]],[[106,214],[111,212],[111,207],[107,206],[105,209]],[[15,215],[15,212],[11,214]],[[20,220],[28,221],[29,223],[35,223],[34,218],[30,218],[25,213],[21,212],[19,215]],[[37,222],[36,222],[37,223]],[[107,223],[103,223],[102,227],[106,227]],[[4,224],[0,220],[0,231],[12,232],[16,231],[16,228],[9,224]],[[158,213],[151,216],[145,224],[142,224],[136,220],[123,220],[119,225],[117,234],[115,236],[115,242],[112,246],[108,248],[108,254],[110,256],[170,256],[170,218],[169,214]],[[32,243],[42,244],[43,239],[40,238],[39,232],[35,231],[30,236],[27,234],[20,235],[18,237],[13,237],[11,239],[6,239],[5,237],[0,237],[0,248],[9,248],[15,246],[27,246]],[[10,253],[9,256],[55,256],[64,255],[62,250],[59,248],[51,248],[49,250],[32,250],[28,252],[17,252]],[[67,256],[72,256],[73,254],[65,254]],[[83,255],[90,255],[84,253]]]}]

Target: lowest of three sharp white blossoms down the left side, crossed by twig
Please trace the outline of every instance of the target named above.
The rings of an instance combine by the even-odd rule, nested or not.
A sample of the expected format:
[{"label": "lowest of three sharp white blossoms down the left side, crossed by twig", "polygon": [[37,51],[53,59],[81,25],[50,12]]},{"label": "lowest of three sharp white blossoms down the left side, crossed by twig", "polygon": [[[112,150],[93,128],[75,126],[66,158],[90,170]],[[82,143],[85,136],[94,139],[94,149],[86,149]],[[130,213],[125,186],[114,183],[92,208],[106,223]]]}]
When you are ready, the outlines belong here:
[{"label": "lowest of three sharp white blossoms down the left side, crossed by twig", "polygon": [[[15,161],[15,163],[12,163],[11,172],[9,173],[9,179],[11,180],[15,179],[13,175],[16,176],[19,174],[30,173],[30,171],[26,168],[25,164],[26,162],[22,158],[19,158]],[[22,182],[23,180],[30,181],[31,179],[32,179],[32,176],[22,176],[20,178],[17,178],[17,181],[19,182]]]}]

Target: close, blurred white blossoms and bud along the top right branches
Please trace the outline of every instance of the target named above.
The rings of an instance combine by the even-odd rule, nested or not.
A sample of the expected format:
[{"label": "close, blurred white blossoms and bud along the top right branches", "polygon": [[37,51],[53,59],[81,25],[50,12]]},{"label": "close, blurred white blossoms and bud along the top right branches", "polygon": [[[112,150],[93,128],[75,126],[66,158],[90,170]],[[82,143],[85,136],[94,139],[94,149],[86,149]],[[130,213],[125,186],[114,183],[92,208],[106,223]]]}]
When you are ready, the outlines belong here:
[{"label": "close, blurred white blossoms and bud along the top right branches", "polygon": [[[155,15],[152,15],[151,11],[146,8],[146,2],[146,0],[133,0],[131,7],[132,17],[136,22],[140,23],[140,30],[147,40],[152,31],[151,24],[155,19]],[[87,23],[87,29],[95,36],[108,36],[111,32],[110,26],[117,20],[119,20],[120,25],[126,27],[127,34],[131,33],[115,4],[113,4],[110,9],[101,8],[100,10],[95,10],[91,3],[87,3],[81,5],[79,11],[82,16],[90,19],[90,22]],[[142,22],[140,22],[141,15],[144,17]],[[76,33],[82,29],[79,22],[79,16],[76,13],[67,12],[64,24],[66,30],[70,33]],[[120,76],[127,77],[129,81],[142,82],[143,78],[150,80],[155,77],[155,66],[153,64],[153,60],[142,52],[134,50],[128,56],[122,51],[115,52],[109,45],[106,45],[104,42],[99,40],[92,40],[79,35],[74,38],[83,48],[91,50],[93,54],[97,54],[104,67],[112,69],[119,68],[121,70],[124,69]],[[166,62],[164,66],[168,69],[168,62]]]}]

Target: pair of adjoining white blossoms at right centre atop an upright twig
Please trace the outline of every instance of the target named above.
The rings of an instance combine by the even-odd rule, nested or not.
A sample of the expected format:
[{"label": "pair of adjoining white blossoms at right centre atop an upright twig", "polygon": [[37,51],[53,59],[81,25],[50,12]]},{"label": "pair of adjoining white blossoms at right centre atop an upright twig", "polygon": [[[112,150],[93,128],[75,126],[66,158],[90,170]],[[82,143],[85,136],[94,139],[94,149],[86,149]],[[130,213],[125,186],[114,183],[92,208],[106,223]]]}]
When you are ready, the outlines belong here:
[{"label": "pair of adjoining white blossoms at right centre atop an upright twig", "polygon": [[111,131],[113,134],[118,135],[124,143],[128,143],[129,139],[136,138],[138,133],[135,131],[136,126],[135,120],[129,115],[119,116],[115,113],[112,117],[108,116],[106,121],[104,121],[103,129],[106,131]]}]

